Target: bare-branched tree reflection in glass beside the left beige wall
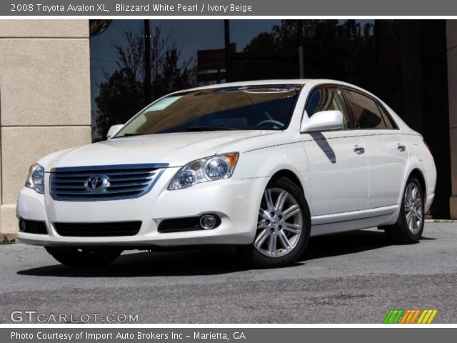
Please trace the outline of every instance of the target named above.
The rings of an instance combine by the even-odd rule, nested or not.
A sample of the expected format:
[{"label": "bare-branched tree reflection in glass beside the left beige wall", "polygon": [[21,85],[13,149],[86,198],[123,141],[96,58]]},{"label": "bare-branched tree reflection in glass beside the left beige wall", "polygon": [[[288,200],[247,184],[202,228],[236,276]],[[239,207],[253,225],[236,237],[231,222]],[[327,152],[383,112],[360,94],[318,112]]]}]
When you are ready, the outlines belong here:
[{"label": "bare-branched tree reflection in glass beside the left beige wall", "polygon": [[[145,99],[144,39],[151,40],[151,98]],[[126,29],[124,41],[114,42],[116,65],[112,74],[105,72],[105,81],[100,83],[99,96],[95,98],[98,109],[95,113],[93,140],[105,139],[111,125],[124,124],[145,103],[158,99],[171,91],[196,85],[194,59],[181,59],[181,50],[171,36],[164,36],[160,27],[155,27],[149,37]]]}]

